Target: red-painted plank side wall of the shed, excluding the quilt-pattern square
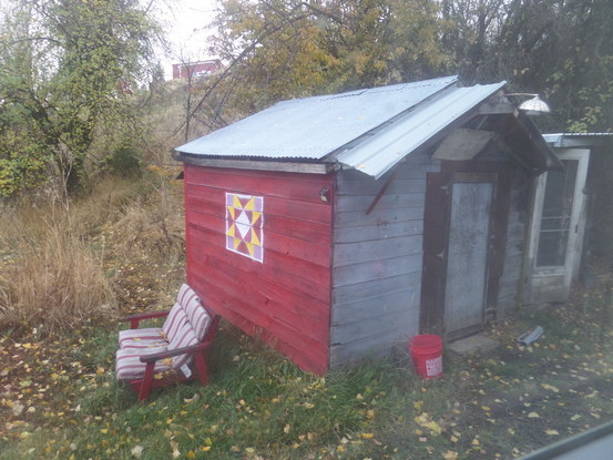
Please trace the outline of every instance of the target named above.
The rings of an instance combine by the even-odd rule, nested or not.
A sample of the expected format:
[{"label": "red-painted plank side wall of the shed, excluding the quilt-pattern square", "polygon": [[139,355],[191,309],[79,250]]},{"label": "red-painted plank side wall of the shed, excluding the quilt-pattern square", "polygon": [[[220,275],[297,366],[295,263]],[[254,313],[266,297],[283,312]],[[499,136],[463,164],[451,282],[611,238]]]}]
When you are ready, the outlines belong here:
[{"label": "red-painted plank side wall of the shed, excluding the quilt-pattern square", "polygon": [[[319,191],[333,177],[186,164],[184,181],[188,283],[245,333],[326,372],[333,205]],[[226,249],[226,192],[264,196],[264,263]]]}]

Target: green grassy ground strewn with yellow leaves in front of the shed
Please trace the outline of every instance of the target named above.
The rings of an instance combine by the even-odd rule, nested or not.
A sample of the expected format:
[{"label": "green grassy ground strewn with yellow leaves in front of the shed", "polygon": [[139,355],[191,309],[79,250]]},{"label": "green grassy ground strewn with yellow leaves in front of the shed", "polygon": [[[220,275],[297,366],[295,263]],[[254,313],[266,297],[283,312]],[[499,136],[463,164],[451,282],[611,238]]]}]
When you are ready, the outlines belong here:
[{"label": "green grassy ground strewn with yellow leaves in front of the shed", "polygon": [[[489,331],[499,349],[446,355],[437,380],[391,359],[317,377],[224,324],[210,385],[143,405],[113,378],[118,327],[85,326],[57,344],[4,336],[19,358],[4,377],[22,408],[4,390],[0,459],[514,458],[613,417],[611,333],[583,334],[581,316],[521,311]],[[541,340],[514,343],[535,324]]]}]

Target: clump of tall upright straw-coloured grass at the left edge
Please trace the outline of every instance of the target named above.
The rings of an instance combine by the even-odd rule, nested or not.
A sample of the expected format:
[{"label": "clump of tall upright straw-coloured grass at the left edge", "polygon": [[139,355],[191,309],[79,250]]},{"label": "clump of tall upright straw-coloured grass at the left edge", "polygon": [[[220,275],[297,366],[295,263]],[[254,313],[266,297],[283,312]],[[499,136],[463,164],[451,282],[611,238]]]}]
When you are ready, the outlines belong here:
[{"label": "clump of tall upright straw-coloured grass at the left edge", "polygon": [[114,315],[115,298],[70,211],[24,205],[0,224],[0,325],[50,334]]}]

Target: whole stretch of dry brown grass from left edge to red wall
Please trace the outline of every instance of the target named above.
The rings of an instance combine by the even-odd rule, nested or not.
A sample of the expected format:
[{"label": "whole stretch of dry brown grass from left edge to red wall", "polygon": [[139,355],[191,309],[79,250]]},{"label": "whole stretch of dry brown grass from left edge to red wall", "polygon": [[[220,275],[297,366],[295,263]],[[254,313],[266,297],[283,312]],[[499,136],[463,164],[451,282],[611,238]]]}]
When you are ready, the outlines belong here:
[{"label": "whole stretch of dry brown grass from left edge to red wall", "polygon": [[176,173],[153,168],[71,203],[0,208],[0,329],[53,333],[171,301],[184,279]]}]

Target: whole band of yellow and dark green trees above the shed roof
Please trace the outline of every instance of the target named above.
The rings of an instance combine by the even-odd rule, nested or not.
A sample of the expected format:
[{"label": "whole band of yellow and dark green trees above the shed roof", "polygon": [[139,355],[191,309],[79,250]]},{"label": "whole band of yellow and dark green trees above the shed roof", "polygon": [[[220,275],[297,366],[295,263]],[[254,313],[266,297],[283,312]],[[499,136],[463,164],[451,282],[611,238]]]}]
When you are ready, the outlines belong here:
[{"label": "whole band of yellow and dark green trees above the shed roof", "polygon": [[224,0],[211,51],[228,67],[191,115],[214,129],[282,99],[458,73],[541,93],[544,129],[609,131],[612,14],[606,0]]}]

